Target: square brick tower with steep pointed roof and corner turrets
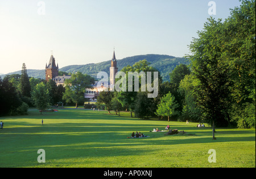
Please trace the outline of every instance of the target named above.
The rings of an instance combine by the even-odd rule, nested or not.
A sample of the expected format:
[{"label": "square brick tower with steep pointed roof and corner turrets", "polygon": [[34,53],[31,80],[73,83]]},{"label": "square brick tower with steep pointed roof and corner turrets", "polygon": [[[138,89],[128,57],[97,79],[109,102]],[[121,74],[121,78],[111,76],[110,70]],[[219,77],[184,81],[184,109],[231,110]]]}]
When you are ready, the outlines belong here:
[{"label": "square brick tower with steep pointed roof and corner turrets", "polygon": [[51,58],[49,60],[49,64],[46,64],[46,81],[49,81],[49,79],[53,79],[59,74],[59,64],[55,64],[55,58],[53,55],[51,55]]}]

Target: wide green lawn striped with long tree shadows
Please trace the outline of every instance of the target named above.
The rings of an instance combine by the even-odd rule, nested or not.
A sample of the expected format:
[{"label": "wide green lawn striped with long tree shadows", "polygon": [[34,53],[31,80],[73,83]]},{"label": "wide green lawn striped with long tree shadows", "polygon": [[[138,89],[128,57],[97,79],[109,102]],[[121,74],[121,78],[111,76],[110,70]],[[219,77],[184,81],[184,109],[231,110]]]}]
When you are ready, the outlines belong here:
[{"label": "wide green lawn striped with long tree shadows", "polygon": [[[121,114],[68,108],[1,117],[0,167],[255,167],[255,130],[217,128],[212,140],[210,127]],[[167,124],[188,133],[149,132]],[[127,139],[136,131],[150,137]],[[46,151],[46,163],[38,163],[38,149]],[[209,149],[216,150],[216,163],[208,162]]]}]

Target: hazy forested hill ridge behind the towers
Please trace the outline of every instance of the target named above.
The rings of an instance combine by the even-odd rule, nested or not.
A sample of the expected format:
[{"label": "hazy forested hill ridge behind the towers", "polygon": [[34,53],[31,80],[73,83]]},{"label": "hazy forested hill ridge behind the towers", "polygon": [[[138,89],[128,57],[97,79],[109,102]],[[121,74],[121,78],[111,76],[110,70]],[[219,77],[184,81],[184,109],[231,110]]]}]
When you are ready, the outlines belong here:
[{"label": "hazy forested hill ridge behind the towers", "polygon": [[[151,66],[158,69],[161,73],[163,81],[169,80],[169,73],[174,70],[176,65],[179,64],[188,64],[188,61],[184,58],[174,57],[169,55],[138,55],[132,57],[126,57],[122,60],[117,60],[118,70],[121,70],[123,67],[130,65],[133,66],[140,60],[146,59]],[[69,65],[63,68],[60,68],[59,71],[67,73],[81,72],[89,74],[90,76],[96,77],[98,72],[107,72],[109,74],[110,60],[104,61],[97,64],[86,64],[86,65]],[[13,72],[9,74],[20,74],[21,70],[18,72]],[[28,76],[35,78],[45,78],[45,70],[27,70]],[[2,76],[3,78],[3,76]]]}]

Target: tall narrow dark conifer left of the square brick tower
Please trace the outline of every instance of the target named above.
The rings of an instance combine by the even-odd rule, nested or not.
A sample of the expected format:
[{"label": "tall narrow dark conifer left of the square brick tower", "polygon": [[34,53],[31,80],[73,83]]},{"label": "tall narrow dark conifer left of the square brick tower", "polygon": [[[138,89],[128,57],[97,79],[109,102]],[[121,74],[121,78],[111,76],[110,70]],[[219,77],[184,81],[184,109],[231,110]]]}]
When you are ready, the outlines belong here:
[{"label": "tall narrow dark conifer left of the square brick tower", "polygon": [[22,65],[22,74],[20,76],[20,91],[24,97],[31,97],[30,79],[28,78],[27,68],[24,63]]}]

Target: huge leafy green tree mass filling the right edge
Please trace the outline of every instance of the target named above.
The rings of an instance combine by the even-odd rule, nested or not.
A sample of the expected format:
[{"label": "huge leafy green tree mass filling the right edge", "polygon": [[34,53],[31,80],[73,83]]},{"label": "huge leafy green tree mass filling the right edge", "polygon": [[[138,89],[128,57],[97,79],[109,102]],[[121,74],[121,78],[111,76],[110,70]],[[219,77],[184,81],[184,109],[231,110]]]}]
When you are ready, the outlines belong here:
[{"label": "huge leafy green tree mass filling the right edge", "polygon": [[255,1],[242,1],[223,23],[208,19],[198,34],[189,58],[199,80],[193,94],[204,120],[213,126],[237,120],[254,127]]}]

